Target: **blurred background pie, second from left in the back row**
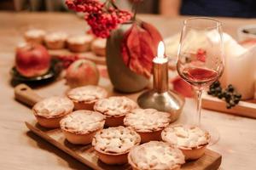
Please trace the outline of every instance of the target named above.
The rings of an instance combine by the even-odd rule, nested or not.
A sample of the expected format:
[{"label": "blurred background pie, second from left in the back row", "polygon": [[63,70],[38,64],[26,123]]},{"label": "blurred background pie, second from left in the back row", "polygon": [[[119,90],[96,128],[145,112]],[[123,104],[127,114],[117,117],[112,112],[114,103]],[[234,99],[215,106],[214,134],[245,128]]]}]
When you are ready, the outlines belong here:
[{"label": "blurred background pie, second from left in the back row", "polygon": [[65,32],[51,32],[44,37],[44,42],[49,49],[65,48],[67,34]]}]

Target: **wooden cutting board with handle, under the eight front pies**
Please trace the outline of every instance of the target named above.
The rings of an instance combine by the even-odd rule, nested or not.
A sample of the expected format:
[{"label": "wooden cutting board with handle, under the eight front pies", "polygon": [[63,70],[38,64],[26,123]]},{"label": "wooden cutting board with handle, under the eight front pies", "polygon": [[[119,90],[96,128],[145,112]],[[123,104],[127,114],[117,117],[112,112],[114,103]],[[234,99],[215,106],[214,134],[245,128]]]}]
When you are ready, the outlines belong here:
[{"label": "wooden cutting board with handle, under the eight front pies", "polygon": [[[129,97],[135,99],[135,95]],[[20,84],[15,88],[15,99],[23,104],[32,106],[36,102],[42,99],[31,88],[25,84]],[[25,122],[33,133],[36,133],[39,137],[47,140],[50,144],[63,150],[68,155],[73,156],[78,161],[81,161],[86,166],[92,167],[98,170],[126,170],[131,169],[128,164],[122,166],[109,166],[99,161],[96,152],[93,147],[88,145],[70,144],[61,133],[61,129],[48,129],[38,125],[36,121]],[[188,161],[182,166],[182,170],[216,170],[221,164],[222,156],[215,151],[207,150],[205,155],[196,161]]]}]

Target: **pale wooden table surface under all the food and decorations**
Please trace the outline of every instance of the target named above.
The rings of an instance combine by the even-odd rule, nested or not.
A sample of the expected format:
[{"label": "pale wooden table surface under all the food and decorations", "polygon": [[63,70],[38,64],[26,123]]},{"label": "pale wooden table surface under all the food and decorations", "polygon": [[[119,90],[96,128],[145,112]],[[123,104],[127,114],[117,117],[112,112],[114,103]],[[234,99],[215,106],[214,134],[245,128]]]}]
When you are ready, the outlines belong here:
[{"label": "pale wooden table surface under all the food and decorations", "polygon": [[[180,31],[184,19],[156,15],[140,17],[158,27],[164,37]],[[235,38],[238,26],[256,23],[256,20],[220,20],[224,23],[224,31]],[[32,111],[15,101],[9,71],[15,59],[15,46],[22,42],[22,32],[30,27],[82,33],[85,23],[74,14],[0,13],[0,169],[87,169],[79,161],[28,132],[24,124],[25,121],[33,119]],[[63,94],[65,88],[64,81],[60,80],[38,87],[36,91],[47,97]],[[195,114],[195,102],[187,99],[179,121],[189,122],[192,114]],[[201,121],[216,127],[220,133],[220,140],[210,148],[222,154],[221,169],[256,169],[255,120],[203,110]]]}]

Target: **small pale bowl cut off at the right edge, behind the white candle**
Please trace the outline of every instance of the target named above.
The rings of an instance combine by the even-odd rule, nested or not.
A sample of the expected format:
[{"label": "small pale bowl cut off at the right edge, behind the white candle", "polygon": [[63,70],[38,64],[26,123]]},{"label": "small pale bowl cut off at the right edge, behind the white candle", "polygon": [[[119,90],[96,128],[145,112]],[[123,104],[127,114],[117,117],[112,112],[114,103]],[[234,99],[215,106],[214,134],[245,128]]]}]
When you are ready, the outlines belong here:
[{"label": "small pale bowl cut off at the right edge, behind the white candle", "polygon": [[239,27],[237,30],[237,35],[240,42],[248,39],[256,39],[256,25]]}]

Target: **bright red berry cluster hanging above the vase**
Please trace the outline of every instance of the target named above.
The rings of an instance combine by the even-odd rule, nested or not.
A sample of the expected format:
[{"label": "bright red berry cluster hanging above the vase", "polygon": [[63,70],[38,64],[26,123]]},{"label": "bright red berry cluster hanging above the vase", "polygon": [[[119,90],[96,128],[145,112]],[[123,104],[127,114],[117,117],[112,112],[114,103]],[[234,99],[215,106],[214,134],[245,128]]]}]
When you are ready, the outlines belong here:
[{"label": "bright red berry cluster hanging above the vase", "polygon": [[97,0],[66,0],[66,4],[74,11],[85,13],[84,19],[96,37],[109,37],[110,32],[119,24],[131,20],[131,13],[128,11],[113,8]]}]

